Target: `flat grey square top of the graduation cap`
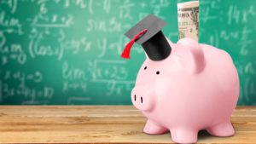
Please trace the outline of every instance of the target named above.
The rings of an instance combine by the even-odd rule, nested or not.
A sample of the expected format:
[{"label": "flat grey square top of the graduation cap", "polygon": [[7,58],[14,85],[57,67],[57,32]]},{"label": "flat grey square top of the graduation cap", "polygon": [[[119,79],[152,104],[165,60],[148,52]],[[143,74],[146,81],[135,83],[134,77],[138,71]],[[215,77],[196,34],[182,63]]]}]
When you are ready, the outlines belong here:
[{"label": "flat grey square top of the graduation cap", "polygon": [[164,26],[166,26],[166,22],[164,20],[154,16],[154,14],[148,14],[148,16],[137,23],[136,26],[133,26],[128,32],[126,32],[125,36],[132,39],[138,32],[141,32],[143,29],[147,28],[148,32],[146,32],[136,42],[142,44],[148,41],[148,39],[153,37],[157,32],[160,32]]}]

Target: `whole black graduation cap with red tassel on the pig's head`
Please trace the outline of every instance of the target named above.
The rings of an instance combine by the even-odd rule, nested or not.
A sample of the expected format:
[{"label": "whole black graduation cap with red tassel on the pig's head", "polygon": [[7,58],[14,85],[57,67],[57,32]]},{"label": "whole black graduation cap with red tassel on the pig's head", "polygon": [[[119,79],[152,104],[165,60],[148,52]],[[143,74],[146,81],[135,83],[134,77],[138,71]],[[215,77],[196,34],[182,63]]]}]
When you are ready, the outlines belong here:
[{"label": "whole black graduation cap with red tassel on the pig's head", "polygon": [[161,32],[164,26],[166,26],[165,21],[160,20],[154,14],[148,14],[147,17],[125,33],[125,36],[129,37],[131,41],[126,44],[121,57],[129,59],[131,47],[136,42],[143,46],[150,60],[166,59],[171,54],[172,48],[163,32]]}]

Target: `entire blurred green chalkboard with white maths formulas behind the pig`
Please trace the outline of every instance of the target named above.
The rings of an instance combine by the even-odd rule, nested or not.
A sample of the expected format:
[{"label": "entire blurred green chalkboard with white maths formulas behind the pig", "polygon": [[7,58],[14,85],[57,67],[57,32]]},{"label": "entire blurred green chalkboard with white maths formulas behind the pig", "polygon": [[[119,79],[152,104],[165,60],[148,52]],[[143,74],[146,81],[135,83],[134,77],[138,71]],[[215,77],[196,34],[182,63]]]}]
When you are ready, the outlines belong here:
[{"label": "entire blurred green chalkboard with white maths formulas behind the pig", "polygon": [[[148,14],[177,42],[181,0],[1,0],[1,105],[131,105],[145,59],[124,33]],[[238,105],[256,105],[256,1],[200,0],[199,42],[224,49],[240,77]]]}]

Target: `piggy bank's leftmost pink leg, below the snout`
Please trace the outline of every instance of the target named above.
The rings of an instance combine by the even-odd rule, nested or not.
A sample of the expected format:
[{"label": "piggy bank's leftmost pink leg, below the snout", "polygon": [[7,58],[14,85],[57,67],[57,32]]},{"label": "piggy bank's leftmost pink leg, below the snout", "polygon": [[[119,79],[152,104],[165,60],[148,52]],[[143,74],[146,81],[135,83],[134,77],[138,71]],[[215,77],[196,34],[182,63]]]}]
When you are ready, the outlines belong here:
[{"label": "piggy bank's leftmost pink leg, below the snout", "polygon": [[143,131],[147,134],[163,134],[168,130],[148,119]]}]

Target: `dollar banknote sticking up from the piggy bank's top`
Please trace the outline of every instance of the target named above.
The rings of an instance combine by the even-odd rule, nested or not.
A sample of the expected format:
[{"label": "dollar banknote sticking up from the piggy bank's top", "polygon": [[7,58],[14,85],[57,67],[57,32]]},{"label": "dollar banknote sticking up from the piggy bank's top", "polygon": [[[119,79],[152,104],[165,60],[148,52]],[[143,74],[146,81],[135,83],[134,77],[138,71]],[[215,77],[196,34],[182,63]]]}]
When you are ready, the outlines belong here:
[{"label": "dollar banknote sticking up from the piggy bank's top", "polygon": [[198,41],[199,2],[177,3],[178,39],[190,37]]}]

